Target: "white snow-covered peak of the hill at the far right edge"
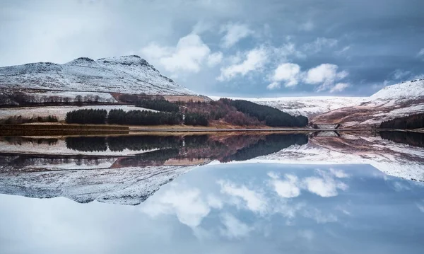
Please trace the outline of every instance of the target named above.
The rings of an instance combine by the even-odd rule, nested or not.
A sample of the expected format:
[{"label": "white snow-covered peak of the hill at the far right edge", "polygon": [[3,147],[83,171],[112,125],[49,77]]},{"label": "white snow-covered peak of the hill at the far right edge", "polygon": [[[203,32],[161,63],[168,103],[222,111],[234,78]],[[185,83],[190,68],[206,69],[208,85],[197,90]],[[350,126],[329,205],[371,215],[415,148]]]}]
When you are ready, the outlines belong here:
[{"label": "white snow-covered peak of the hill at the far right edge", "polygon": [[416,79],[386,86],[370,96],[370,100],[402,100],[424,97],[424,79]]}]

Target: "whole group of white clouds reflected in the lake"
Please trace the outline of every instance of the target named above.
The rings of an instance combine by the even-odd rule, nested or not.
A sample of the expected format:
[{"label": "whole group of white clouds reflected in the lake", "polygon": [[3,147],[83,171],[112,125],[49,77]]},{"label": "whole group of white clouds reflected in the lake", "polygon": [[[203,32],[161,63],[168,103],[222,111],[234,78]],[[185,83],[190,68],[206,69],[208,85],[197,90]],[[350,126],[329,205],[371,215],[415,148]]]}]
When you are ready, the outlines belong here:
[{"label": "whole group of white clouds reflected in the lake", "polygon": [[[331,212],[311,207],[309,202],[295,201],[301,190],[310,191],[320,197],[334,197],[338,190],[347,190],[348,185],[341,183],[339,178],[348,178],[343,171],[330,169],[329,171],[315,170],[317,175],[299,178],[294,173],[279,175],[269,172],[269,184],[247,187],[230,180],[218,180],[216,192],[204,192],[197,187],[171,183],[163,192],[157,192],[154,198],[146,200],[141,206],[141,211],[151,217],[169,214],[177,217],[180,223],[192,228],[198,238],[210,238],[214,233],[226,238],[242,238],[248,236],[257,226],[245,224],[240,219],[240,214],[223,212],[219,216],[219,224],[215,226],[201,226],[202,221],[208,217],[212,209],[225,211],[225,206],[246,209],[260,217],[270,217],[280,214],[286,219],[285,224],[293,226],[296,217],[312,219],[317,224],[338,221],[338,217]],[[270,188],[266,190],[266,188]],[[283,198],[281,198],[283,197]],[[349,214],[346,209],[336,209],[337,212]],[[262,225],[264,227],[264,225]],[[311,233],[304,233],[304,238],[312,238]]]}]

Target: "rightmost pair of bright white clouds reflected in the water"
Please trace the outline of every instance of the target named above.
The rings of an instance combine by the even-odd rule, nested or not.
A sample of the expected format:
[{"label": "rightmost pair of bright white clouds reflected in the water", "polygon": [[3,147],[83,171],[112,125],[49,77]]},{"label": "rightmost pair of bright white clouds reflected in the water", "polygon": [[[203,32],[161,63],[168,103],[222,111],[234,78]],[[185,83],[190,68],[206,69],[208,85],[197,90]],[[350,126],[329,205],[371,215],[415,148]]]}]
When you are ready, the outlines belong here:
[{"label": "rightmost pair of bright white clouds reflected in the water", "polygon": [[341,170],[330,168],[329,171],[317,170],[318,176],[307,177],[299,180],[296,175],[285,174],[284,180],[279,178],[277,173],[269,172],[271,185],[281,197],[292,198],[300,195],[300,190],[308,190],[321,197],[334,197],[338,195],[337,190],[347,190],[348,185],[335,178],[348,178],[349,175]]}]

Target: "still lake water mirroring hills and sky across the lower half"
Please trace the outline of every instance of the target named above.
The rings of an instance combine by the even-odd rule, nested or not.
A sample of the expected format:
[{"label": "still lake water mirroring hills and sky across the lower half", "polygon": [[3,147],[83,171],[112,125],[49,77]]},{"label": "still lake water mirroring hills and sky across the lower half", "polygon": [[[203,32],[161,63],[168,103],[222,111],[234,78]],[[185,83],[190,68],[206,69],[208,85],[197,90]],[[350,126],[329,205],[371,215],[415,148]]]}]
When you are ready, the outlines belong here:
[{"label": "still lake water mirroring hills and sky across the lower half", "polygon": [[0,253],[423,253],[413,135],[2,137]]}]

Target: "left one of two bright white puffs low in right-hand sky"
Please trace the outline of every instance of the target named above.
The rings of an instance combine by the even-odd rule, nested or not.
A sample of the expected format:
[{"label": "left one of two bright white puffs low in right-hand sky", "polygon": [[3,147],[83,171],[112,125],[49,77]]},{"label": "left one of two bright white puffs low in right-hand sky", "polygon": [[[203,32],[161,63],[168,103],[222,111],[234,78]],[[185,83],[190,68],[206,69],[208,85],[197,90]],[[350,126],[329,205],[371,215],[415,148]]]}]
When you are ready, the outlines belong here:
[{"label": "left one of two bright white puffs low in right-hand sky", "polygon": [[285,83],[286,87],[296,86],[299,82],[299,74],[300,66],[298,64],[280,64],[271,78],[272,83],[266,88],[269,90],[279,88],[281,86],[281,81]]}]

